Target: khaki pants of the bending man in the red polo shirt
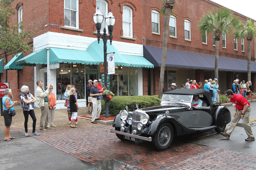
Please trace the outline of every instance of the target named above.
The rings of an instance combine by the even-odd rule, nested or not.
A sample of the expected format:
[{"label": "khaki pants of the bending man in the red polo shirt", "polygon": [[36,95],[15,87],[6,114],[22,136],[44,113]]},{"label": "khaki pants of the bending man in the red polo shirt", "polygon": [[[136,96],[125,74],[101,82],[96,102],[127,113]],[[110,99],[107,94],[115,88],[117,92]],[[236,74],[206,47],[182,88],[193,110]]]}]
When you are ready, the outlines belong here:
[{"label": "khaki pants of the bending man in the red polo shirt", "polygon": [[[231,121],[230,127],[227,130],[227,134],[230,136],[232,131],[234,130],[234,128],[236,127],[237,122],[241,119],[241,113],[243,110],[237,110],[237,115],[236,117],[234,117]],[[251,114],[251,106],[248,107],[248,109],[246,110],[246,112],[244,113],[244,117],[243,117],[243,125],[244,125],[244,130],[246,132],[246,134],[248,135],[248,137],[254,137],[252,134],[252,128],[249,124],[249,120],[250,120],[250,114]]]}]

